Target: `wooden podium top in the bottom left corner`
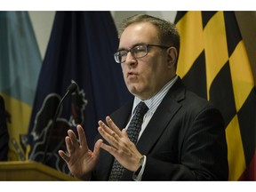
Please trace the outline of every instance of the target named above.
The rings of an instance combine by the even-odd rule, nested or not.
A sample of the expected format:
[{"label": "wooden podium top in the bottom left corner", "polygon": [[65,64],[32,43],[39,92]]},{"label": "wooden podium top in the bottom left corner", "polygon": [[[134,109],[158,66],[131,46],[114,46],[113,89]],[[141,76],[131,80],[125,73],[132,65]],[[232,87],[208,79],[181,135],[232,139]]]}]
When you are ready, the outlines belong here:
[{"label": "wooden podium top in the bottom left corner", "polygon": [[77,180],[52,167],[33,161],[0,162],[0,180]]}]

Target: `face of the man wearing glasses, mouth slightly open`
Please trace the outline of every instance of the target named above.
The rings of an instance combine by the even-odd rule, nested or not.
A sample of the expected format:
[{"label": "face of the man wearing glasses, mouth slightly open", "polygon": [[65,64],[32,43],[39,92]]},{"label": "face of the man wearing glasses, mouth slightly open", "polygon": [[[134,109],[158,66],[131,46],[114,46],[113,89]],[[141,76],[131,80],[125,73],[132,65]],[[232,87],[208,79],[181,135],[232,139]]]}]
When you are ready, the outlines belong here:
[{"label": "face of the man wearing glasses, mouth slightly open", "polygon": [[[160,44],[154,25],[140,22],[124,29],[119,50],[130,50],[139,44]],[[170,65],[169,56],[168,49],[156,46],[149,46],[148,55],[140,59],[135,59],[131,52],[128,52],[125,62],[121,64],[128,90],[141,100],[152,97],[173,76],[174,68]]]}]

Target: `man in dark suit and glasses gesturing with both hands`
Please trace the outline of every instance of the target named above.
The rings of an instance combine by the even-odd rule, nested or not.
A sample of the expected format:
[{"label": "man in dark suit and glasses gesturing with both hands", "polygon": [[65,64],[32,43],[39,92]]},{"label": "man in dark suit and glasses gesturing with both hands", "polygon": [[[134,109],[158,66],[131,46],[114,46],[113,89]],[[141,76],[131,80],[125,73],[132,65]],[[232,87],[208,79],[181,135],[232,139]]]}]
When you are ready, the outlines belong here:
[{"label": "man in dark suit and glasses gesturing with both hands", "polygon": [[[180,50],[176,27],[135,15],[124,20],[120,34],[114,56],[134,100],[107,116],[106,123],[99,121],[93,151],[80,125],[79,142],[68,131],[68,153],[59,154],[70,172],[81,180],[228,180],[222,116],[207,100],[186,90],[176,75]],[[127,132],[140,101],[148,111],[139,140],[133,143]],[[116,166],[124,167],[117,179]]]}]

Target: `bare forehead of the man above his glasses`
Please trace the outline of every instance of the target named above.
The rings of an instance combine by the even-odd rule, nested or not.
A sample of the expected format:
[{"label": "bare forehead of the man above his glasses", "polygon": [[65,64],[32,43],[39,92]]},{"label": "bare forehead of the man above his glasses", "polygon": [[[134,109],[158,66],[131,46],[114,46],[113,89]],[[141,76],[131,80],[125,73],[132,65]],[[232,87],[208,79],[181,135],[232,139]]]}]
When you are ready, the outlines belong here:
[{"label": "bare forehead of the man above his glasses", "polygon": [[132,48],[135,44],[157,44],[157,28],[149,22],[133,23],[120,36],[119,48]]}]

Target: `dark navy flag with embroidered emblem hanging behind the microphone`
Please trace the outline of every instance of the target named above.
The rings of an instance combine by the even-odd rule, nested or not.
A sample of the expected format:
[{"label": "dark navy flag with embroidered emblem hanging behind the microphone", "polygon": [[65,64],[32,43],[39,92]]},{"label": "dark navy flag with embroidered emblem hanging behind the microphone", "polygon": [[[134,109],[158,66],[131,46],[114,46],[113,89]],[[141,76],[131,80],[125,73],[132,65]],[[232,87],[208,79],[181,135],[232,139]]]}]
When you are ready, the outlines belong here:
[{"label": "dark navy flag with embroidered emblem hanging behind the microphone", "polygon": [[[117,47],[110,12],[56,12],[29,126],[30,159],[68,173],[58,150],[65,150],[67,131],[76,124],[83,125],[92,148],[98,121],[131,97],[113,57]],[[71,82],[78,90],[63,100],[52,126]]]}]

